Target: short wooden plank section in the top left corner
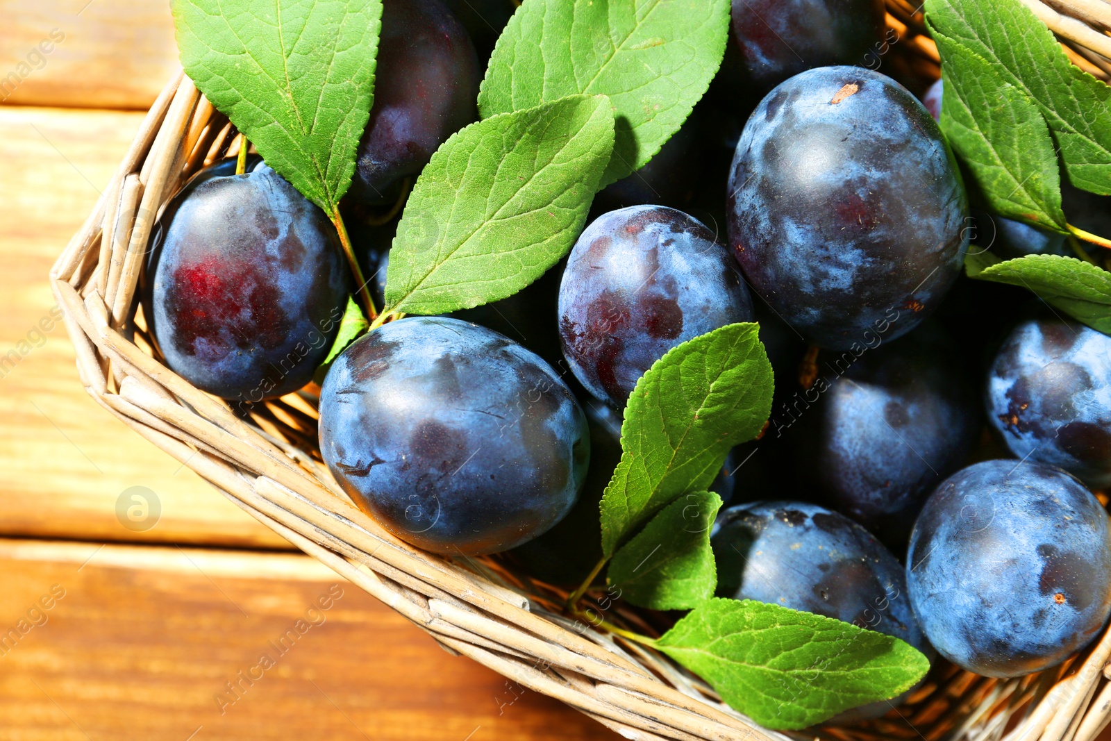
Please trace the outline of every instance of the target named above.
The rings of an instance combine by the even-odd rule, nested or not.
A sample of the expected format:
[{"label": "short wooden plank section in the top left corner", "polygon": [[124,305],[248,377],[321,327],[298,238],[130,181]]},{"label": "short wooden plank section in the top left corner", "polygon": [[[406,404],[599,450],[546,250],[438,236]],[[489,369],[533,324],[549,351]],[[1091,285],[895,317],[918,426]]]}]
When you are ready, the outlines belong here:
[{"label": "short wooden plank section in the top left corner", "polygon": [[0,0],[0,101],[146,109],[178,68],[164,0]]}]

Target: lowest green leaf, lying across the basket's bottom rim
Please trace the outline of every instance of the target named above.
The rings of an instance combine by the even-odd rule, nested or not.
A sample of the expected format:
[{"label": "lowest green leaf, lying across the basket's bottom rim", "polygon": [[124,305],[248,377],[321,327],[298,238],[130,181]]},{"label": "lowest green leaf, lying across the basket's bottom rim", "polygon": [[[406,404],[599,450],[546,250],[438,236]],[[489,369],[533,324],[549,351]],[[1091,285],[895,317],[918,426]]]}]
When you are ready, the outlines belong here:
[{"label": "lowest green leaf, lying across the basket's bottom rim", "polygon": [[800,729],[897,697],[930,669],[898,638],[778,604],[713,598],[655,648],[771,729]]}]

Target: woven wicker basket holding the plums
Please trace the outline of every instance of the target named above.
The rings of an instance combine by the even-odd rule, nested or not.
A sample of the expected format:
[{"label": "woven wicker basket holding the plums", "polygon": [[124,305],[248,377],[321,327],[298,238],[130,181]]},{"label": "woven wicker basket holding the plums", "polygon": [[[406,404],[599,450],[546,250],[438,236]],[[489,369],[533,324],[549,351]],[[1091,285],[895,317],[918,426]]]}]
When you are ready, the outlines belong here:
[{"label": "woven wicker basket holding the plums", "polygon": [[[1075,8],[1070,17],[1038,0],[1023,2],[1037,7],[1077,63],[1108,78],[1111,37],[1094,27],[1111,26],[1111,4],[1050,0],[1053,8]],[[925,83],[935,79],[937,49],[923,34],[921,14],[905,0],[889,0],[888,9],[899,40],[890,57],[884,51],[884,63]],[[352,505],[321,463],[312,393],[257,404],[247,419],[169,371],[151,349],[134,300],[151,228],[186,179],[227,154],[232,142],[231,124],[188,78],[170,81],[51,271],[81,382],[108,412],[448,651],[558,698],[629,739],[809,740],[817,733],[861,741],[1004,734],[1008,741],[1090,741],[1111,720],[1105,633],[1084,653],[1038,674],[997,680],[938,661],[909,701],[884,718],[804,733],[765,731],[664,657],[561,614],[565,592],[514,574],[496,558],[444,559],[399,541]],[[657,632],[635,611],[615,607],[608,615]]]}]

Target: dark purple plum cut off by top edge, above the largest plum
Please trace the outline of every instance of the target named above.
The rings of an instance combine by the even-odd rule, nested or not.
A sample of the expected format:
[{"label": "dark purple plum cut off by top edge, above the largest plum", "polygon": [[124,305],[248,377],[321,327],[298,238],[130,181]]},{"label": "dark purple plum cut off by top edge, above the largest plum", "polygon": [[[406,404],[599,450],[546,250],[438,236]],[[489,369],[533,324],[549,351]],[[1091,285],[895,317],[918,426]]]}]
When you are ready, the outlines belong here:
[{"label": "dark purple plum cut off by top edge, above the largest plum", "polygon": [[760,93],[814,67],[867,64],[883,41],[882,0],[733,0],[731,16],[745,82]]}]

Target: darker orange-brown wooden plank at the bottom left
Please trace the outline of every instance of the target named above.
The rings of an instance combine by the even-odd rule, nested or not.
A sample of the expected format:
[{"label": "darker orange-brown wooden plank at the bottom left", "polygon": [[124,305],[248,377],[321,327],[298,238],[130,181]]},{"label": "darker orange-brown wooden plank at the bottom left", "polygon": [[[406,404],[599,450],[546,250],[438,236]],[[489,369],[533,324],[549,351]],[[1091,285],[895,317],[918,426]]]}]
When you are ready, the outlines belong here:
[{"label": "darker orange-brown wooden plank at the bottom left", "polygon": [[308,557],[0,540],[0,741],[618,738]]}]

